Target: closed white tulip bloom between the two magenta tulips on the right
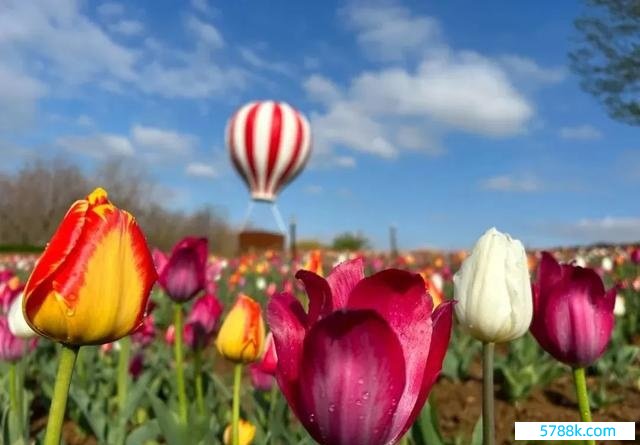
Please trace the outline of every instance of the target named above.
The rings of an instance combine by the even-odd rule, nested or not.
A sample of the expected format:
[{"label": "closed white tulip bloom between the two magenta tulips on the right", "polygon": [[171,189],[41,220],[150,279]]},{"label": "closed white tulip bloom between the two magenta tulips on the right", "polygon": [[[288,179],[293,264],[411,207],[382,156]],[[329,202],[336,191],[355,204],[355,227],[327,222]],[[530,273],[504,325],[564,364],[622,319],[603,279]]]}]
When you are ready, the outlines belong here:
[{"label": "closed white tulip bloom between the two magenta tulips on the right", "polygon": [[475,338],[502,343],[523,336],[533,317],[522,243],[489,229],[453,277],[456,317]]}]

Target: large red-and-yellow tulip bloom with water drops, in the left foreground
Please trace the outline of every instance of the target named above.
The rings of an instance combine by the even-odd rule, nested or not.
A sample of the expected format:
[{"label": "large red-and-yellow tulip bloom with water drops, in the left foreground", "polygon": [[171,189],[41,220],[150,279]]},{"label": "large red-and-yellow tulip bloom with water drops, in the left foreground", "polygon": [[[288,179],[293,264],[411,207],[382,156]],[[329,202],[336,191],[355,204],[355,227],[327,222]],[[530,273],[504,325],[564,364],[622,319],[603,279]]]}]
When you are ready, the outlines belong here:
[{"label": "large red-and-yellow tulip bloom with water drops, in the left foreground", "polygon": [[112,342],[142,323],[156,278],[136,220],[97,188],[71,206],[36,264],[25,319],[65,344]]}]

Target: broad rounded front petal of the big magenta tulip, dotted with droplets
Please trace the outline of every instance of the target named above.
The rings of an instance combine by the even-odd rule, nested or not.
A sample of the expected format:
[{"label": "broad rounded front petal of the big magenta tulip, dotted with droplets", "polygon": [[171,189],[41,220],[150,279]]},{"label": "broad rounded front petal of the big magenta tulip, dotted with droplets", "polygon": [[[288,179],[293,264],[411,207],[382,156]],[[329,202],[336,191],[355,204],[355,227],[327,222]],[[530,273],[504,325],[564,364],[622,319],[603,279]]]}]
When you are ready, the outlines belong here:
[{"label": "broad rounded front petal of the big magenta tulip, dotted with droplets", "polygon": [[402,346],[374,311],[334,312],[305,338],[298,414],[320,443],[388,443],[404,386]]}]

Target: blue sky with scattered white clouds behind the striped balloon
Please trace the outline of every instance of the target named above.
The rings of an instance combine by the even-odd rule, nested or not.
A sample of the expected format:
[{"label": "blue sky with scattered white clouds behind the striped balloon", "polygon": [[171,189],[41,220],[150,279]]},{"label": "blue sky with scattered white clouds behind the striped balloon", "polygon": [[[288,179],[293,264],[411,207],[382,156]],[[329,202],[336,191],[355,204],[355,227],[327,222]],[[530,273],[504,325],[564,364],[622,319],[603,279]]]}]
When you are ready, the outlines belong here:
[{"label": "blue sky with scattered white clouds behind the striped balloon", "polygon": [[638,129],[567,66],[582,8],[9,0],[0,169],[122,156],[167,205],[239,224],[248,194],[224,127],[245,102],[276,99],[313,132],[279,199],[300,237],[353,230],[385,247],[394,224],[404,248],[468,247],[494,225],[530,246],[640,240]]}]

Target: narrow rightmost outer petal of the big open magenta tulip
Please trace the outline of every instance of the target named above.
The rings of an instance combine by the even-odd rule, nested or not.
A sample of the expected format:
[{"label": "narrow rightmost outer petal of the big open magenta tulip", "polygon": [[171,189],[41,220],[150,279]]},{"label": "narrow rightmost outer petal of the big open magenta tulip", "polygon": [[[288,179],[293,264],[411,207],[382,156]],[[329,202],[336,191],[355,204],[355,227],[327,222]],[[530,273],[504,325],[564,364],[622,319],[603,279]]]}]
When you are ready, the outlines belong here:
[{"label": "narrow rightmost outer petal of the big open magenta tulip", "polygon": [[440,371],[442,370],[442,363],[444,357],[447,354],[447,348],[449,346],[449,340],[451,339],[451,327],[453,326],[453,301],[447,301],[438,305],[436,310],[431,316],[433,322],[433,333],[431,334],[431,344],[429,345],[429,357],[427,358],[427,366],[424,370],[424,376],[422,378],[422,387],[420,388],[420,394],[416,400],[416,404],[413,407],[411,415],[406,421],[404,428],[400,430],[399,434],[395,436],[395,439],[402,437],[413,422],[420,415],[422,407],[424,406],[431,387],[436,382]]}]

